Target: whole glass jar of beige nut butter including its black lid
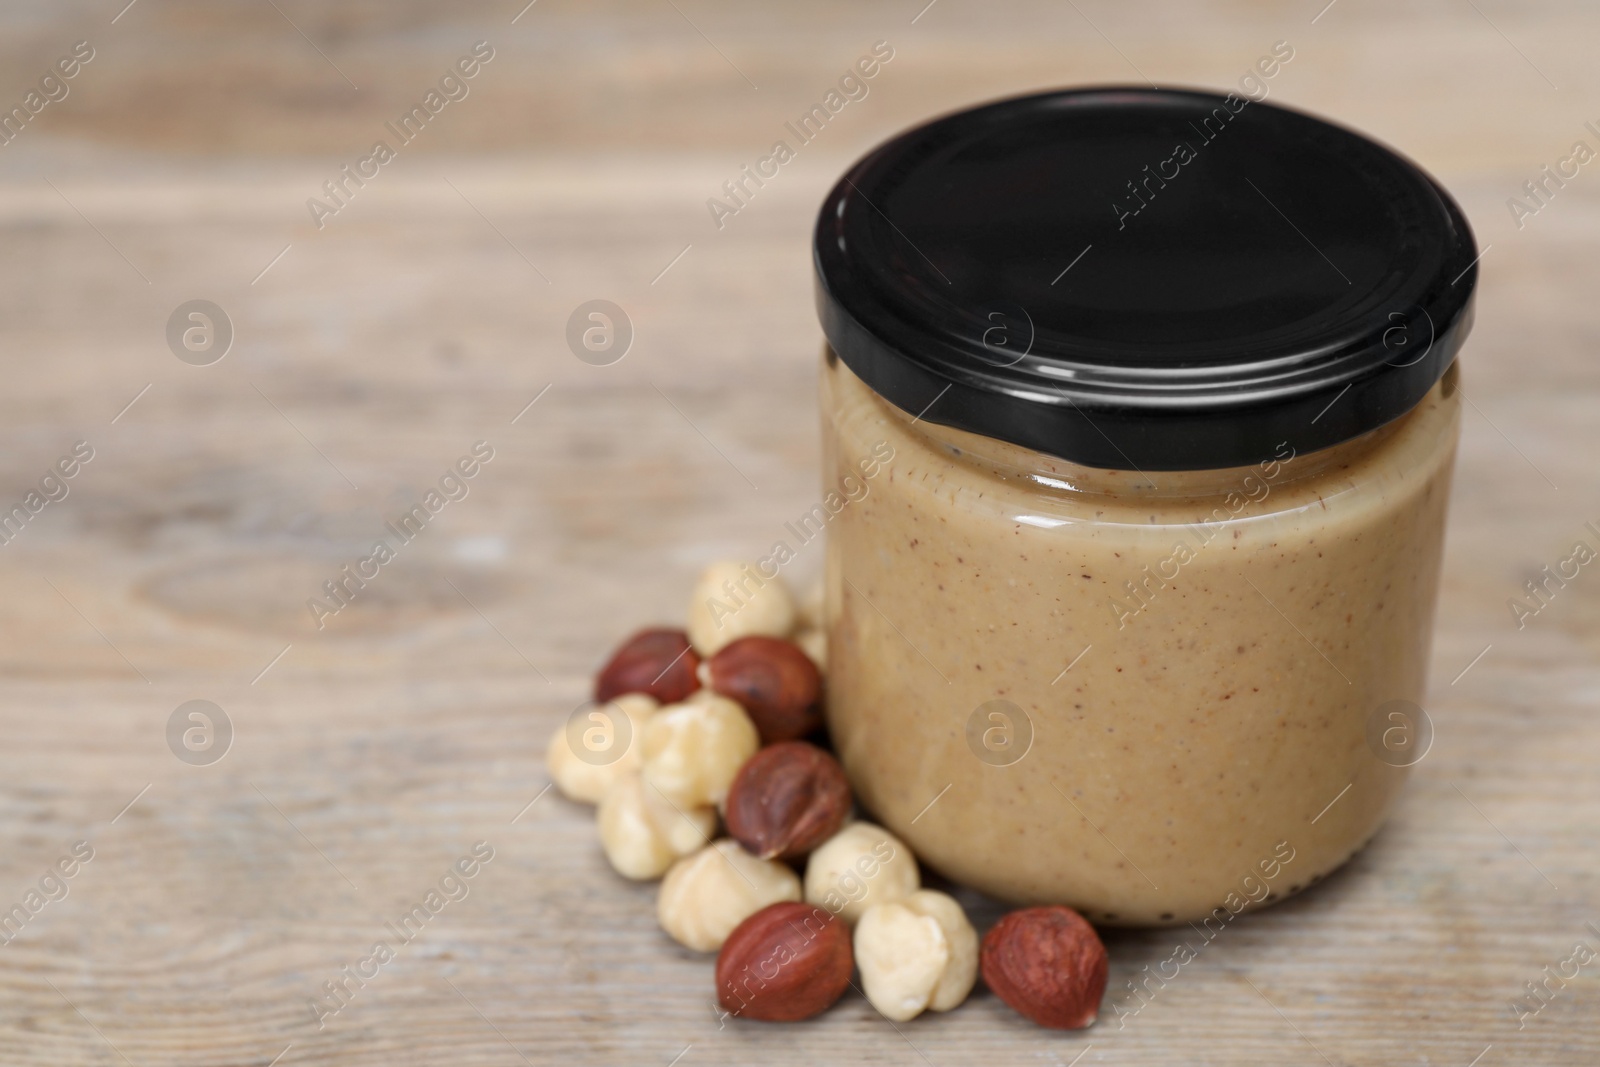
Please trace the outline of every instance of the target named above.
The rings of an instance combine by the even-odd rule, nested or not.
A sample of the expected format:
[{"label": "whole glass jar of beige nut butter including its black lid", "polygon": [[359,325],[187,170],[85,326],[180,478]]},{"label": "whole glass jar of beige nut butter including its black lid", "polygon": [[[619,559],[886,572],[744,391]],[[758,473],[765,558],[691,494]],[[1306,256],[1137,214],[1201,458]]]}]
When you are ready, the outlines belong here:
[{"label": "whole glass jar of beige nut butter including its black lid", "polygon": [[1282,899],[1426,755],[1477,250],[1355,133],[1077,90],[816,227],[829,728],[934,869],[1110,925]]}]

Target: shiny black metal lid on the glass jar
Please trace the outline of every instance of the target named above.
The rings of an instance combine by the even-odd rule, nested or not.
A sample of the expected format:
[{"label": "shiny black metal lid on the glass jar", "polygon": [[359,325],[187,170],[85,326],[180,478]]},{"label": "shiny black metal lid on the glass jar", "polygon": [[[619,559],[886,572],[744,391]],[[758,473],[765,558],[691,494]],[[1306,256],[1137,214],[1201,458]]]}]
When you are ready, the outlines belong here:
[{"label": "shiny black metal lid on the glass jar", "polygon": [[1416,165],[1211,93],[1090,88],[917,126],[816,224],[845,363],[923,419],[1096,467],[1306,453],[1410,411],[1477,246]]}]

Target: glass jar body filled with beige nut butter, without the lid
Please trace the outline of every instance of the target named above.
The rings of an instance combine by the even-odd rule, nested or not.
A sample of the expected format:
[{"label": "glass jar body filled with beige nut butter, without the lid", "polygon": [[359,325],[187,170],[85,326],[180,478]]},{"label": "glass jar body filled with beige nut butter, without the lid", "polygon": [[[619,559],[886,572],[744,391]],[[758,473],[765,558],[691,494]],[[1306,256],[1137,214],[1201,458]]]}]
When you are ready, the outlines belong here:
[{"label": "glass jar body filled with beige nut butter, without the lid", "polygon": [[1338,867],[1422,741],[1392,731],[1421,725],[1456,374],[1334,446],[1146,474],[918,419],[829,352],[827,715],[864,806],[1098,923]]}]

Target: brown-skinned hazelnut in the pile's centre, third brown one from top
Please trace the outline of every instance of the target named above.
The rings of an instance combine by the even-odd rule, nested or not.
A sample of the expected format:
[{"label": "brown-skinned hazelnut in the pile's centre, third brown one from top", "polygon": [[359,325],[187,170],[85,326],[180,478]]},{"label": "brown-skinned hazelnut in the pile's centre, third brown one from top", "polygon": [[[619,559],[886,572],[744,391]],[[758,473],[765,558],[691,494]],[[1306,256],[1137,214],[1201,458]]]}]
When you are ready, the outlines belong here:
[{"label": "brown-skinned hazelnut in the pile's centre, third brown one from top", "polygon": [[800,859],[850,816],[845,768],[805,741],[779,741],[746,760],[728,787],[728,833],[762,859]]}]

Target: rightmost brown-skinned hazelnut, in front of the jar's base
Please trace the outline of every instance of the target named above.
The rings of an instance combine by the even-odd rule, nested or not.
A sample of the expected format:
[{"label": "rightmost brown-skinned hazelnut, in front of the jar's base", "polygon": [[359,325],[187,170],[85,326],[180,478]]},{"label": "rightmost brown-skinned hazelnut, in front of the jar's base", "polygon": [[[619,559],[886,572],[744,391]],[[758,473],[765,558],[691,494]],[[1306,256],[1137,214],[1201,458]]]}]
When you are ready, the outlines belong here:
[{"label": "rightmost brown-skinned hazelnut, in front of the jar's base", "polygon": [[1078,1030],[1099,1014],[1106,945],[1070,907],[1011,912],[984,934],[979,963],[989,989],[1042,1027]]}]

